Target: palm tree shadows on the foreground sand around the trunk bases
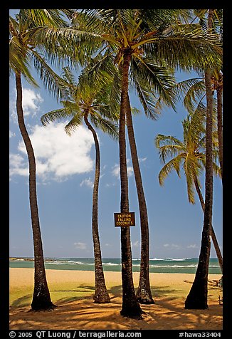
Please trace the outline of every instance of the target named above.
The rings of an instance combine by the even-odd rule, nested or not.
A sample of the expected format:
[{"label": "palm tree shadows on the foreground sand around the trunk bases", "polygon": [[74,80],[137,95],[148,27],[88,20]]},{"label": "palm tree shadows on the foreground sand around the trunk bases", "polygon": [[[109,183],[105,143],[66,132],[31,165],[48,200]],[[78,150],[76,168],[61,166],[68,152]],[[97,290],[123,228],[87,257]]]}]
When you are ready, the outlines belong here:
[{"label": "palm tree shadows on the foreground sand around the trunk bases", "polygon": [[[11,329],[98,329],[98,330],[127,330],[127,329],[221,329],[222,311],[216,302],[209,310],[185,310],[184,298],[169,286],[151,286],[154,304],[141,305],[142,320],[128,319],[120,315],[122,304],[122,286],[107,288],[110,303],[97,304],[93,302],[94,286],[80,285],[76,289],[56,289],[53,293],[73,293],[65,298],[58,298],[58,306],[51,314],[28,313],[26,307],[16,308],[11,315]],[[78,293],[88,292],[80,296]],[[181,290],[179,290],[181,292]],[[14,301],[14,307],[21,301],[28,301],[31,296],[23,296]],[[178,300],[179,299],[179,300]]]}]

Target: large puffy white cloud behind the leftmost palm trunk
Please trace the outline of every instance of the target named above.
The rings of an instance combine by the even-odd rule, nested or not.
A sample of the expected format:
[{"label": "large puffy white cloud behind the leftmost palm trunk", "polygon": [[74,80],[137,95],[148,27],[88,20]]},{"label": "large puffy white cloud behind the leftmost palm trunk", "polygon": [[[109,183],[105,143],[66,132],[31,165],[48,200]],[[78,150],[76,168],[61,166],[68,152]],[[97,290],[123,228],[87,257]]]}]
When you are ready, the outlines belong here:
[{"label": "large puffy white cloud behind the leftmost palm trunk", "polygon": [[[83,126],[78,127],[71,136],[65,133],[67,122],[51,123],[46,127],[36,125],[31,130],[31,143],[36,156],[37,175],[45,179],[65,179],[73,174],[93,170],[90,150],[93,145],[91,132]],[[26,170],[26,148],[21,141],[18,147],[21,157],[11,155],[11,174],[22,174]],[[18,162],[16,161],[18,160]],[[28,170],[27,170],[28,171]],[[24,172],[23,172],[24,173]]]}]

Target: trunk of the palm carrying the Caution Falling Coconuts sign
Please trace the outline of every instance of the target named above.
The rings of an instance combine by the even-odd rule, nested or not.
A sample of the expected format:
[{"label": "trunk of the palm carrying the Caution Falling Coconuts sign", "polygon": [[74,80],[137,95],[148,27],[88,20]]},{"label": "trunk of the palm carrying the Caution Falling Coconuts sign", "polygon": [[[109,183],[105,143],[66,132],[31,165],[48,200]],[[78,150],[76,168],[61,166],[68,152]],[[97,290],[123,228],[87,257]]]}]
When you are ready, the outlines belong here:
[{"label": "trunk of the palm carrying the Caution Falling Coconuts sign", "polygon": [[[121,180],[121,213],[129,212],[127,156],[125,139],[125,118],[127,114],[128,74],[131,51],[125,50],[122,67],[122,90],[120,104],[119,148],[120,148],[120,180]],[[128,318],[142,319],[142,309],[135,296],[132,275],[132,252],[130,244],[130,227],[121,227],[122,256],[122,310],[120,314]]]}]

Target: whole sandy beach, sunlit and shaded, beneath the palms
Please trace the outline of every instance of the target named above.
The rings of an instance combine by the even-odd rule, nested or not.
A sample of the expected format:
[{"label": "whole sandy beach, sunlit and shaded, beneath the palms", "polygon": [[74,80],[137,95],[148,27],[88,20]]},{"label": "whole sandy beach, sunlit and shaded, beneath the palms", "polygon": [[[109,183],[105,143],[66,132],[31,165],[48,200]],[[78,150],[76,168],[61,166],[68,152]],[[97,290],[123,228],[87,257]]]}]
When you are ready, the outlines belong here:
[{"label": "whole sandy beach, sunlit and shaded, beneath the palms", "polygon": [[[10,329],[18,330],[222,330],[221,290],[209,275],[209,309],[185,310],[194,274],[150,273],[154,305],[142,305],[143,320],[123,318],[120,272],[105,272],[111,303],[93,303],[93,271],[46,270],[53,303],[51,312],[28,312],[33,293],[33,268],[10,268]],[[139,273],[133,273],[135,288]]]}]

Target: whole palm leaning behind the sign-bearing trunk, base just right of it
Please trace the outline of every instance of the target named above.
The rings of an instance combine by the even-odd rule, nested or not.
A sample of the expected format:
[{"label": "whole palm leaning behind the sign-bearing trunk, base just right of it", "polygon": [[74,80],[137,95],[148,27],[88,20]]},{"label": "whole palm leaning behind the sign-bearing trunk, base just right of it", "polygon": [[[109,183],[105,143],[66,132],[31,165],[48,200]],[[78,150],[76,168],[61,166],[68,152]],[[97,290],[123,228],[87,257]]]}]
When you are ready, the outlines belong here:
[{"label": "whole palm leaning behind the sign-bearing trunk, base just right of it", "polygon": [[[144,64],[137,64],[133,61],[133,71],[130,73],[130,78],[132,78],[133,85],[130,87],[135,86],[137,93],[139,95],[139,99],[142,103],[144,108],[144,113],[149,117],[155,119],[158,115],[158,110],[154,110],[154,105],[156,102],[156,97],[154,92],[161,93],[162,98],[164,94],[166,94],[166,89],[169,88],[170,85],[174,83],[174,78],[167,68],[157,66],[152,60],[148,58],[142,59],[142,61],[146,62],[146,66]],[[88,73],[85,74],[85,78],[83,75],[80,75],[80,82],[84,84],[93,81],[93,74],[90,70],[93,69],[95,65],[99,62],[99,58],[94,58],[91,61],[91,65],[88,68]],[[139,68],[138,68],[139,66]],[[121,68],[120,68],[121,71]],[[120,77],[120,73],[117,73],[115,70],[115,66],[107,61],[104,65],[102,65],[101,72],[103,73],[102,76],[100,74],[97,75],[97,80],[99,83],[104,80],[105,74],[109,73],[112,76],[113,80],[113,87],[112,87],[112,95],[110,103],[113,105],[114,101],[117,103],[117,95],[115,93],[120,92],[119,83],[121,83],[122,79]],[[100,73],[100,70],[98,70]],[[152,79],[152,86],[147,85],[147,78]],[[167,101],[167,98],[163,98],[163,100]],[[172,103],[172,102],[171,102]],[[144,189],[142,185],[142,175],[139,168],[139,159],[137,155],[137,146],[135,142],[135,133],[133,128],[132,122],[132,115],[134,113],[138,113],[139,111],[135,108],[131,108],[130,106],[130,98],[129,93],[127,95],[127,132],[130,142],[130,152],[132,155],[132,165],[133,170],[135,173],[135,182],[137,187],[137,197],[139,202],[139,215],[140,215],[140,225],[141,225],[141,261],[140,261],[140,274],[139,274],[139,287],[137,289],[137,300],[139,303],[154,303],[152,298],[152,293],[150,290],[149,285],[149,229],[148,229],[148,217],[147,217],[147,205],[144,195]]]}]

